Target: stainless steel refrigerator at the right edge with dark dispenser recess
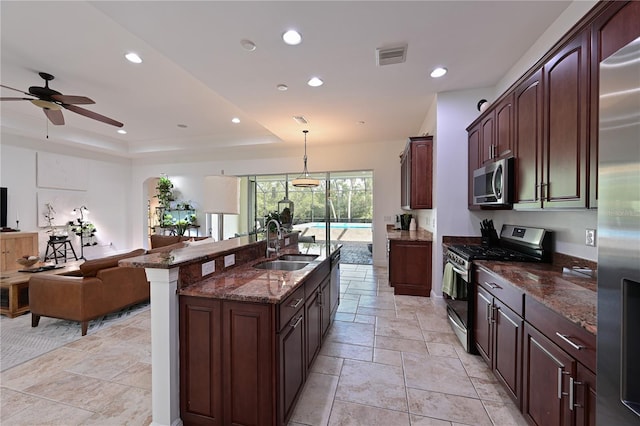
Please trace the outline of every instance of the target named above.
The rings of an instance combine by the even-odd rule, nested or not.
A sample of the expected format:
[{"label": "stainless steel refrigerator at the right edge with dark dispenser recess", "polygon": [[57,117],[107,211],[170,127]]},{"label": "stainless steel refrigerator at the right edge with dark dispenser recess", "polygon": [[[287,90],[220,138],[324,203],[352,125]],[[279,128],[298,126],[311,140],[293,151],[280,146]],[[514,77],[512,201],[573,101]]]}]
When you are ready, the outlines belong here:
[{"label": "stainless steel refrigerator at the right edge with dark dispenser recess", "polygon": [[600,64],[597,424],[640,424],[640,38]]}]

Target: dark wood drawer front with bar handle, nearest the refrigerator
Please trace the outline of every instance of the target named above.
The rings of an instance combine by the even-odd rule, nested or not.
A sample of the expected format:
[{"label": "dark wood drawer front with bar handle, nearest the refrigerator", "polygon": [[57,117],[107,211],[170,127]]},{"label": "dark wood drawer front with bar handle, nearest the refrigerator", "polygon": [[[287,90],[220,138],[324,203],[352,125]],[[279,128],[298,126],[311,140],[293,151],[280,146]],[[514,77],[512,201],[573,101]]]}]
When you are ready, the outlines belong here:
[{"label": "dark wood drawer front with bar handle, nearest the refrigerator", "polygon": [[524,318],[569,355],[596,371],[596,336],[530,297]]}]

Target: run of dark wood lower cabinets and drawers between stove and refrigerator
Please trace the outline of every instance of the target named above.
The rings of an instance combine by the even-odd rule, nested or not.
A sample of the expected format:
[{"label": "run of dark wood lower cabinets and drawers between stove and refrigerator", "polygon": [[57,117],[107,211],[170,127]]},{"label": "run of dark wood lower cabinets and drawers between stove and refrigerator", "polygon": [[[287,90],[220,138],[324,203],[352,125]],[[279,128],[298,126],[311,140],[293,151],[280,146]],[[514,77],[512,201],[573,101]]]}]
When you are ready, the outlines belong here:
[{"label": "run of dark wood lower cabinets and drawers between stove and refrigerator", "polygon": [[474,283],[476,348],[527,422],[595,425],[595,336],[481,266]]}]

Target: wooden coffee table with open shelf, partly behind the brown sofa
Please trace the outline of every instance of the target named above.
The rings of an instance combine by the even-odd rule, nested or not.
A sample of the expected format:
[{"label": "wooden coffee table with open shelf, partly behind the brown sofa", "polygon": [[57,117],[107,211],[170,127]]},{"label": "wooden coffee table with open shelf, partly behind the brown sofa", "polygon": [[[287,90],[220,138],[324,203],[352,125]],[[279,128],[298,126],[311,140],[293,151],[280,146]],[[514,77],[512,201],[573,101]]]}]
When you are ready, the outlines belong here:
[{"label": "wooden coffee table with open shelf, partly behind the brown sofa", "polygon": [[[42,272],[5,271],[0,273],[0,314],[15,318],[29,312],[29,278],[34,275],[70,275],[80,270],[84,260],[67,262],[62,268]],[[33,266],[37,267],[37,265]]]}]

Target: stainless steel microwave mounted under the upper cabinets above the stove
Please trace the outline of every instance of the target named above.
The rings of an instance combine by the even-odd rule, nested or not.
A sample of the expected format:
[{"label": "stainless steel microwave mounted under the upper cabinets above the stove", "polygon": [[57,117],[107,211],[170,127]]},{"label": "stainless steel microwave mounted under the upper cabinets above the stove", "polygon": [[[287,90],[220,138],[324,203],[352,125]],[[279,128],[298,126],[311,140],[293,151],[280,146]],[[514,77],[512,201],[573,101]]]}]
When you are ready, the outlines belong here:
[{"label": "stainless steel microwave mounted under the upper cabinets above the stove", "polygon": [[487,164],[473,172],[473,204],[508,206],[513,194],[513,157]]}]

